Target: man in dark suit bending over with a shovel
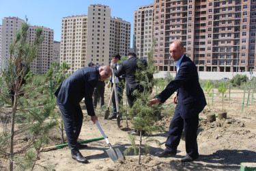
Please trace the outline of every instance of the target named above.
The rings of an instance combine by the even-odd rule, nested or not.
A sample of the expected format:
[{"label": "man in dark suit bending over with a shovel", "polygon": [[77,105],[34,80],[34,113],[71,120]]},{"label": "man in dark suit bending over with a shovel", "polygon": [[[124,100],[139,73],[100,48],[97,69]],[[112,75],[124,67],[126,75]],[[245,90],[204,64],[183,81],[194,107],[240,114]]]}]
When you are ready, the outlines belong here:
[{"label": "man in dark suit bending over with a shovel", "polygon": [[87,113],[91,116],[91,120],[95,124],[98,118],[94,113],[92,94],[98,80],[104,81],[111,74],[112,70],[109,66],[81,68],[64,80],[61,86],[55,91],[72,159],[81,163],[87,163],[88,161],[79,152],[79,148],[85,148],[86,146],[77,143],[83,124],[83,112],[79,103],[85,98]]}]

